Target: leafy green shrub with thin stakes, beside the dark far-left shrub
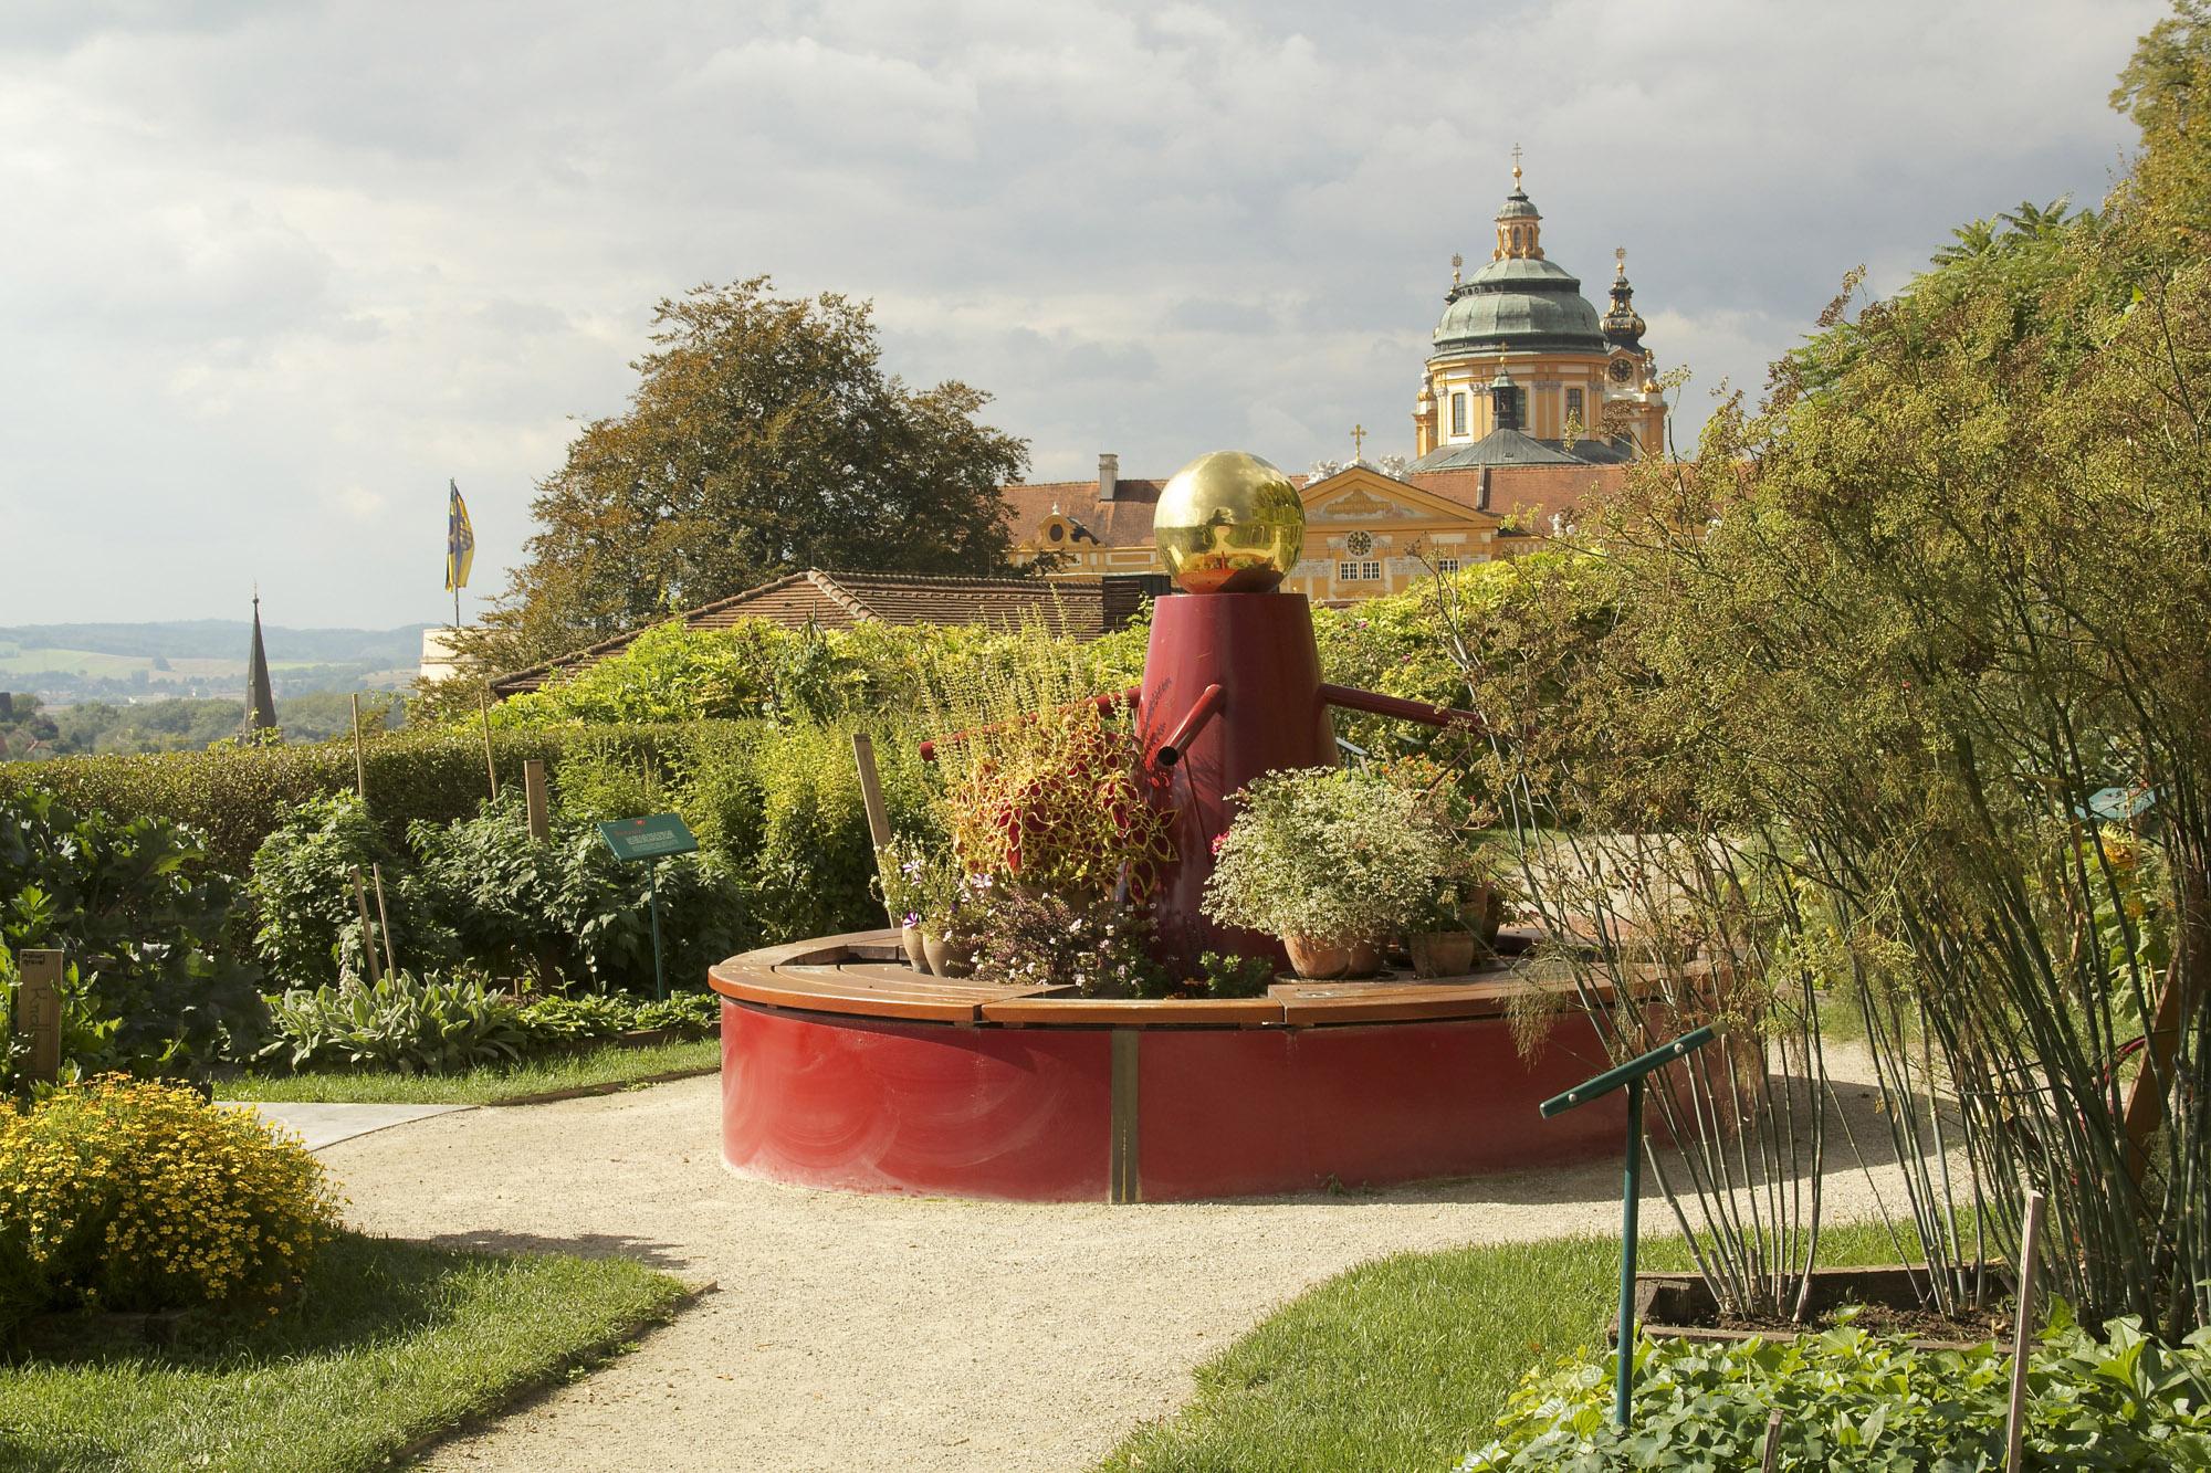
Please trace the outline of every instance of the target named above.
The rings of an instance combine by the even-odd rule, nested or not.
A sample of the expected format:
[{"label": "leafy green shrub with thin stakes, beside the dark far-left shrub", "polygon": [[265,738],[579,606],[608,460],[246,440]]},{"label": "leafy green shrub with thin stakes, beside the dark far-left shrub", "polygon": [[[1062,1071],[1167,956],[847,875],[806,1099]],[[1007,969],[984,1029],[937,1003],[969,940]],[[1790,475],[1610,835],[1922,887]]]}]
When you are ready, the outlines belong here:
[{"label": "leafy green shrub with thin stakes, beside the dark far-left shrub", "polygon": [[[363,876],[371,936],[383,933],[374,889],[383,865],[385,911],[398,900],[402,869],[369,818],[367,805],[349,792],[303,803],[290,821],[261,840],[245,891],[254,900],[259,927],[254,949],[285,986],[323,986],[340,971],[367,975],[360,953],[360,900],[354,874]],[[405,913],[405,905],[400,907]],[[394,920],[394,947],[405,947],[405,929]]]}]

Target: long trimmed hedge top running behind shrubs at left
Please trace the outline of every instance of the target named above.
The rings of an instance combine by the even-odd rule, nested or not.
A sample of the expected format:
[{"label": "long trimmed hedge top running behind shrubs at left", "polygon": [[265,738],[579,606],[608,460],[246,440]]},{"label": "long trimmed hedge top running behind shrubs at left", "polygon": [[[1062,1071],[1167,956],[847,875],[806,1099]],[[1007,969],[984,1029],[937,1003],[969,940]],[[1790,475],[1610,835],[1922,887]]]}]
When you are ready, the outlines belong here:
[{"label": "long trimmed hedge top running behind shrubs at left", "polygon": [[[716,739],[738,741],[741,730],[736,721],[506,730],[491,734],[491,752],[504,790],[522,785],[522,763],[528,759],[544,759],[555,781],[570,754],[612,754],[668,767],[685,750]],[[407,845],[411,821],[473,818],[489,796],[484,734],[478,728],[369,736],[365,767],[369,812],[394,849]],[[206,834],[208,865],[245,874],[261,840],[298,805],[354,790],[354,743],[347,736],[312,745],[0,763],[0,792],[20,794],[31,787],[86,812],[186,823]]]}]

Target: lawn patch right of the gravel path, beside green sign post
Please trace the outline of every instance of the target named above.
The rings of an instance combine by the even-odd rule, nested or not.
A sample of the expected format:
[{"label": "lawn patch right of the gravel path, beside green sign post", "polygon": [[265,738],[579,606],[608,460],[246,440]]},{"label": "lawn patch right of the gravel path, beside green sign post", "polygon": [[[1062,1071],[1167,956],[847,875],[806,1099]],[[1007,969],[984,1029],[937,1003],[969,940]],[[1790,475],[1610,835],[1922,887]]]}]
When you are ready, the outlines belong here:
[{"label": "lawn patch right of the gravel path, beside green sign post", "polygon": [[[1828,1228],[1822,1263],[1888,1263],[1879,1228]],[[1683,1270],[1680,1239],[1643,1267]],[[1364,1263],[1267,1316],[1198,1367],[1181,1413],[1136,1429],[1106,1469],[1444,1469],[1492,1435],[1526,1369],[1603,1345],[1616,1239],[1557,1239]]]}]

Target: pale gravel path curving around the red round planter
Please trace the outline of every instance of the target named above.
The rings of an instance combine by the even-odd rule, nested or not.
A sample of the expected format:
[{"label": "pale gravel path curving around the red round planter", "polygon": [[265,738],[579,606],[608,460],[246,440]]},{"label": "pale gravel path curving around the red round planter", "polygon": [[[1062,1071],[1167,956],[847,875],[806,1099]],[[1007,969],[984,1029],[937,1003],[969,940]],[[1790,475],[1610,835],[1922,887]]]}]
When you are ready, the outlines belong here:
[{"label": "pale gravel path curving around the red round planter", "polygon": [[[719,1079],[701,1077],[323,1152],[369,1232],[619,1252],[719,1285],[429,1466],[1081,1469],[1172,1413],[1201,1360],[1353,1263],[1618,1223],[1618,1163],[1262,1203],[845,1197],[734,1177],[716,1117]],[[1831,1219],[1862,1214],[1864,1177],[1837,1174],[1828,1201]],[[1645,1221],[1672,1232],[1658,1203]]]}]

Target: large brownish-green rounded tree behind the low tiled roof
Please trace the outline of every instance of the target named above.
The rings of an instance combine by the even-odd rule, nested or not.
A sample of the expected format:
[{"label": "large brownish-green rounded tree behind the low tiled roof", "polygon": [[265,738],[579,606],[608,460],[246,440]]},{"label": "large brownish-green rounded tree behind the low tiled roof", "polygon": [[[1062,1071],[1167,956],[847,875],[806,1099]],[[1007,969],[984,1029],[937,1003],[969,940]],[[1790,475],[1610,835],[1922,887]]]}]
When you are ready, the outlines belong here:
[{"label": "large brownish-green rounded tree behind the low tiled roof", "polygon": [[964,383],[884,376],[869,303],[772,296],[767,276],[654,310],[621,416],[537,487],[528,562],[462,655],[480,670],[617,635],[780,573],[993,573],[997,487],[1028,445]]}]

